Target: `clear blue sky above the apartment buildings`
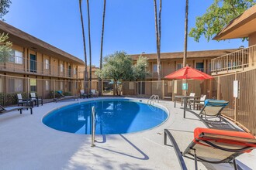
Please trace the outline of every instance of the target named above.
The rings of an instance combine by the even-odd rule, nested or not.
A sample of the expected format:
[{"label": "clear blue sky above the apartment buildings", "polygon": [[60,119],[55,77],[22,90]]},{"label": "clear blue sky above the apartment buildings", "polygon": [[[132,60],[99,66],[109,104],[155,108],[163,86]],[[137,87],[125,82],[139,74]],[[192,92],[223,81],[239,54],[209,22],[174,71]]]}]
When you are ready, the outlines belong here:
[{"label": "clear blue sky above the apartment buildings", "polygon": [[[92,65],[99,66],[103,0],[90,0]],[[189,3],[189,30],[197,16],[203,15],[212,1]],[[82,2],[88,56],[88,20],[86,0]],[[84,49],[79,0],[12,0],[5,22],[50,43],[82,60]],[[161,53],[184,50],[185,0],[162,0]],[[247,46],[240,39],[199,42],[188,39],[188,50],[234,49]],[[153,0],[106,0],[103,56],[125,51],[128,54],[156,53]],[[88,59],[88,58],[87,58]],[[89,60],[88,60],[89,61]]]}]

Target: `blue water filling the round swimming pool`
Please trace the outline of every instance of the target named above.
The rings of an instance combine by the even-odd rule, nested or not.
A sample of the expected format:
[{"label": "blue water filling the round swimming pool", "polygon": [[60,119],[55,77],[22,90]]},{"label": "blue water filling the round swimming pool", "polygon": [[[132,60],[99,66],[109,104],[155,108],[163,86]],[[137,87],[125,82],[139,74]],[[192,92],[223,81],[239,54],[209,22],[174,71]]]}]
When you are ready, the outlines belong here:
[{"label": "blue water filling the round swimming pool", "polygon": [[43,117],[43,124],[58,131],[91,134],[95,106],[96,134],[126,134],[161,124],[168,114],[161,108],[131,100],[95,100],[61,107]]}]

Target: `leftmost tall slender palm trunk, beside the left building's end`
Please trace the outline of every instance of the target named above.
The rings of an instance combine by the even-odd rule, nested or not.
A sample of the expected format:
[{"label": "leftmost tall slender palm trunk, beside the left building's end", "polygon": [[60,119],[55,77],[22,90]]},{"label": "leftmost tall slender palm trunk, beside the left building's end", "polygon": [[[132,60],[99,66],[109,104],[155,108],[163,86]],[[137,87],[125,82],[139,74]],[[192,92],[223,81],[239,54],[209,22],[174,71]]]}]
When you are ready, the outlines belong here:
[{"label": "leftmost tall slender palm trunk, beside the left building's end", "polygon": [[84,75],[84,90],[88,91],[88,76],[87,76],[87,56],[86,56],[86,46],[85,46],[85,28],[84,28],[84,19],[83,13],[81,11],[81,1],[79,0],[79,10],[80,10],[80,18],[81,18],[81,30],[83,35],[83,42],[84,42],[84,55],[85,55],[85,75]]}]

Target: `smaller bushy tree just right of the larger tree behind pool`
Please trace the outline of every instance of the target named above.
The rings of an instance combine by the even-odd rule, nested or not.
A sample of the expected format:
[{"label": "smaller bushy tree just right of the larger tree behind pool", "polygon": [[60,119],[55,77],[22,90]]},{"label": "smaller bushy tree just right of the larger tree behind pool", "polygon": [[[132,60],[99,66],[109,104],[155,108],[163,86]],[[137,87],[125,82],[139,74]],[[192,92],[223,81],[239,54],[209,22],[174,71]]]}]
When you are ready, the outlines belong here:
[{"label": "smaller bushy tree just right of the larger tree behind pool", "polygon": [[137,63],[133,66],[133,80],[145,80],[150,75],[147,71],[148,61],[146,56],[139,56]]}]

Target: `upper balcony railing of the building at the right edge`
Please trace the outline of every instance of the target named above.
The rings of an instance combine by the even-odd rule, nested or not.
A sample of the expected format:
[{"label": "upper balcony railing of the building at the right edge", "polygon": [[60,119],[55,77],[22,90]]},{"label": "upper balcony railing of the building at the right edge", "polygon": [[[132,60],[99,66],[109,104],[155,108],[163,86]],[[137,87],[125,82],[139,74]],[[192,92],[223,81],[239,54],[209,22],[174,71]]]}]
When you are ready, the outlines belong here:
[{"label": "upper balcony railing of the building at the right edge", "polygon": [[[233,72],[254,65],[256,45],[211,60],[211,72]],[[251,59],[251,60],[250,60]]]}]

